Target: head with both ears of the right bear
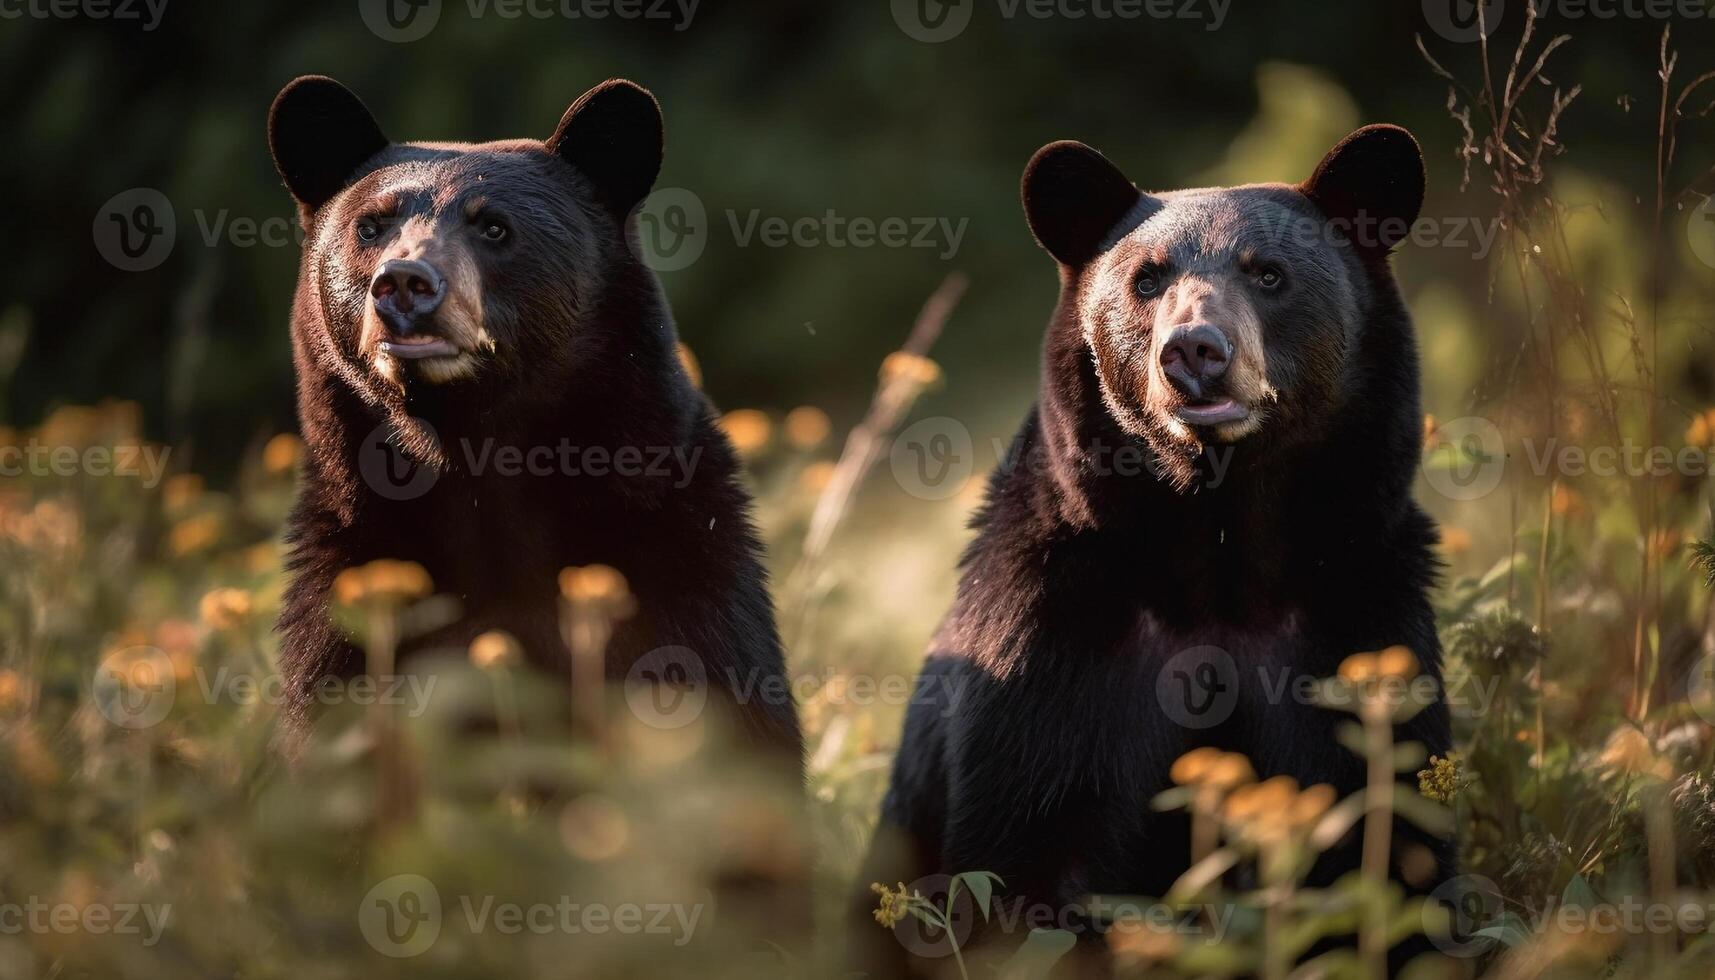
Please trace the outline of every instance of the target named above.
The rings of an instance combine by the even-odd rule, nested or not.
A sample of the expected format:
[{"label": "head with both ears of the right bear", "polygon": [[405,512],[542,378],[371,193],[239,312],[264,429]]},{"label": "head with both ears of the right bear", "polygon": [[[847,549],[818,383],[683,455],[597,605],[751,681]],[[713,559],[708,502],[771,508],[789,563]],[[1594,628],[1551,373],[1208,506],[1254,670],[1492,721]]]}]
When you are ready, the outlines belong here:
[{"label": "head with both ears of the right bear", "polygon": [[1302,445],[1341,412],[1422,199],[1422,153],[1391,125],[1353,132],[1297,185],[1146,194],[1080,142],[1024,173],[1031,232],[1062,266],[1060,340],[1180,487],[1214,448]]}]

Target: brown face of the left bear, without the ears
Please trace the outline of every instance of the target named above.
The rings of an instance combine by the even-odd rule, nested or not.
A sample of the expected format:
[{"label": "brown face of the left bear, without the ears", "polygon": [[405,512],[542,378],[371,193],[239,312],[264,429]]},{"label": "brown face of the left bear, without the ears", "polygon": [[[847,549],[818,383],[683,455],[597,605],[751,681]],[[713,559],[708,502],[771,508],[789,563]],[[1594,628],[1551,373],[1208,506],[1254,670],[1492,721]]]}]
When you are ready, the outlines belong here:
[{"label": "brown face of the left bear, without the ears", "polygon": [[571,347],[619,235],[564,170],[540,144],[413,148],[353,184],[316,227],[329,343],[400,388],[511,383]]}]

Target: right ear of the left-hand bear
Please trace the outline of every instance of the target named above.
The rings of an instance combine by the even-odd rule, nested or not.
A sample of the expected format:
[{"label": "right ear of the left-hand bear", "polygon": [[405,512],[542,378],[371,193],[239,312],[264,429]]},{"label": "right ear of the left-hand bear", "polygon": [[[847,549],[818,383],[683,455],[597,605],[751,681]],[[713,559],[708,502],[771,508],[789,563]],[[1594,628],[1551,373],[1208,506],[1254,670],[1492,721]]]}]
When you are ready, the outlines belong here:
[{"label": "right ear of the left-hand bear", "polygon": [[578,96],[547,139],[595,182],[616,215],[636,208],[660,173],[660,105],[648,89],[624,79],[605,81]]}]

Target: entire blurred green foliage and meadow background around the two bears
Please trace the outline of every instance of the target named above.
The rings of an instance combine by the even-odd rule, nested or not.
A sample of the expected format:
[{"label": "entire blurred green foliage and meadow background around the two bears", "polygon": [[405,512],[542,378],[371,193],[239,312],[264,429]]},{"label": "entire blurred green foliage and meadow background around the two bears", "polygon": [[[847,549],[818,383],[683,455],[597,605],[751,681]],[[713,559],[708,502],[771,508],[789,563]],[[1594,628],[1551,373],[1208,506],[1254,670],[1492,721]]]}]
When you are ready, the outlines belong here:
[{"label": "entire blurred green foliage and meadow background around the two bears", "polygon": [[[1506,7],[1490,57],[1497,74],[1523,26],[1521,3]],[[146,733],[118,729],[94,707],[98,664],[130,645],[166,650],[182,683],[197,671],[273,669],[268,621],[292,460],[288,443],[268,453],[264,445],[295,427],[286,312],[297,249],[208,242],[204,228],[292,218],[262,132],[290,77],[340,77],[400,139],[545,136],[609,76],[660,98],[660,185],[693,191],[712,221],[701,259],[662,280],[708,393],[722,408],[761,412],[744,417],[744,443],[801,681],[808,853],[825,925],[861,891],[851,877],[899,731],[900,705],[852,685],[912,676],[952,594],[981,475],[1036,386],[1056,280],[1017,206],[1029,154],[1077,137],[1146,187],[1297,180],[1350,129],[1387,120],[1423,142],[1425,213],[1442,232],[1519,215],[1492,191],[1492,160],[1461,158],[1447,82],[1415,36],[1473,89],[1478,48],[1439,38],[1418,3],[1235,3],[1218,31],[1207,19],[1007,19],[1000,9],[979,2],[969,29],[942,45],[906,36],[882,0],[705,0],[683,31],[473,17],[449,0],[434,33],[410,45],[369,33],[355,0],[170,0],[156,31],[0,21],[0,445],[144,436],[173,448],[175,474],[147,489],[91,475],[0,481],[0,898],[172,901],[189,923],[149,953],[125,941],[0,937],[0,978],[755,973],[736,954],[743,929],[701,935],[665,961],[655,958],[662,949],[621,941],[513,944],[492,934],[449,937],[427,959],[382,961],[358,935],[352,910],[400,870],[448,892],[616,901],[698,894],[722,872],[696,865],[695,844],[710,832],[756,863],[785,851],[772,848],[784,838],[767,814],[734,798],[744,783],[724,760],[636,731],[614,735],[636,741],[624,764],[590,759],[587,747],[564,752],[552,678],[521,692],[518,745],[465,738],[451,714],[413,723],[410,738],[434,759],[422,772],[425,805],[418,822],[388,836],[374,834],[370,755],[341,735],[362,719],[331,717],[309,779],[285,781],[268,752],[266,705],[180,699]],[[1401,251],[1434,417],[1494,419],[1514,450],[1556,436],[1676,450],[1715,441],[1715,268],[1691,247],[1691,209],[1715,192],[1715,125],[1696,115],[1708,94],[1688,106],[1657,228],[1662,27],[1550,12],[1537,46],[1562,31],[1571,41],[1549,62],[1552,82],[1528,86],[1521,134],[1540,132],[1556,88],[1583,86],[1540,194],[1557,223],[1518,227],[1492,251]],[[1679,17],[1672,31],[1684,62],[1676,84],[1715,69],[1715,19]],[[1492,105],[1459,101],[1482,130]],[[146,273],[105,263],[91,235],[103,203],[132,187],[159,189],[178,216],[173,254]],[[727,213],[744,221],[753,209],[969,227],[950,257],[741,247]],[[1544,247],[1554,259],[1519,271],[1518,259]],[[864,415],[876,367],[924,297],[954,271],[969,290],[933,350],[940,383],[907,422],[943,415],[966,426],[972,479],[923,499],[883,455],[806,573],[801,542],[840,436]],[[1576,299],[1556,299],[1568,288]],[[1588,371],[1573,347],[1544,354],[1544,330],[1585,328],[1610,374]],[[1614,433],[1592,422],[1605,396],[1619,405]],[[832,436],[794,445],[784,434],[785,412],[803,405],[827,412]],[[1425,427],[1435,448],[1439,429]],[[1519,908],[1552,896],[1593,903],[1657,887],[1648,863],[1660,870],[1665,848],[1679,887],[1715,894],[1715,705],[1694,669],[1715,652],[1715,618],[1706,572],[1693,566],[1698,554],[1708,566],[1708,544],[1698,544],[1710,527],[1708,481],[1650,484],[1646,511],[1638,481],[1528,463],[1514,457],[1506,482],[1473,499],[1437,493],[1434,479],[1418,486],[1446,527],[1437,606],[1449,676],[1499,692],[1458,717],[1468,760],[1454,814],[1466,867]],[[1640,558],[1657,570],[1646,589]],[[199,616],[211,589],[242,590],[250,616],[237,626]],[[463,650],[437,669],[454,705],[492,697],[494,678]],[[520,772],[549,786],[551,803],[520,807],[508,783]],[[592,850],[614,826],[628,827],[628,843]],[[357,838],[367,841],[362,860],[346,846]],[[1509,946],[1542,941],[1513,920],[1501,925]],[[1681,939],[1677,959],[1660,946],[1626,958],[1643,941],[1533,949],[1568,977],[1708,975],[1706,935]],[[1192,971],[1240,970],[1245,942],[1221,947],[1218,970]],[[811,963],[808,975],[825,975]]]}]

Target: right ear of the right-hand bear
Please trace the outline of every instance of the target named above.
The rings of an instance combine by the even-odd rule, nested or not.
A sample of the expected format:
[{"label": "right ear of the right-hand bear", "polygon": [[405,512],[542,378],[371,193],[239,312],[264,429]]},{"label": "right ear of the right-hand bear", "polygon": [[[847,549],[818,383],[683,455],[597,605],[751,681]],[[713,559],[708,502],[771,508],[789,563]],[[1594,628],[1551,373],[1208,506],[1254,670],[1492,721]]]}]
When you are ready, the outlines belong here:
[{"label": "right ear of the right-hand bear", "polygon": [[1329,149],[1298,189],[1346,225],[1360,252],[1384,256],[1411,232],[1423,184],[1417,139],[1398,125],[1365,125]]}]

